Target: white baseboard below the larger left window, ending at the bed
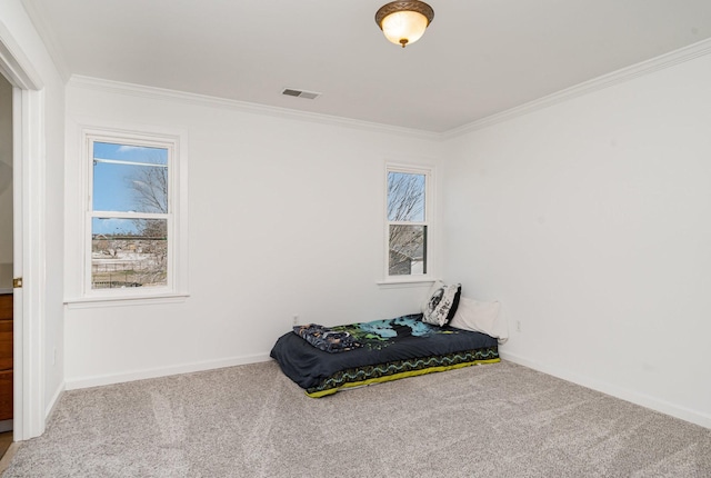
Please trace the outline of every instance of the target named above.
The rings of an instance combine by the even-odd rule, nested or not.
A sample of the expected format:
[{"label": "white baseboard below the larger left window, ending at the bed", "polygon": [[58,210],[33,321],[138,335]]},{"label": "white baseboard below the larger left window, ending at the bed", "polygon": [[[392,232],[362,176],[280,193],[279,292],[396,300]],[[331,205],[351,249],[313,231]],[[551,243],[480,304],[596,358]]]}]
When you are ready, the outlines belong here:
[{"label": "white baseboard below the larger left window, ending at the bed", "polygon": [[67,390],[80,388],[101,387],[104,385],[122,384],[127,381],[144,380],[148,378],[168,377],[171,375],[191,374],[194,371],[214,370],[218,368],[234,367],[240,365],[257,364],[271,360],[268,353],[256,353],[250,356],[232,357],[221,360],[208,360],[193,364],[182,364],[173,367],[160,367],[146,370],[133,370],[123,374],[110,374],[94,377],[81,377],[68,379]]}]

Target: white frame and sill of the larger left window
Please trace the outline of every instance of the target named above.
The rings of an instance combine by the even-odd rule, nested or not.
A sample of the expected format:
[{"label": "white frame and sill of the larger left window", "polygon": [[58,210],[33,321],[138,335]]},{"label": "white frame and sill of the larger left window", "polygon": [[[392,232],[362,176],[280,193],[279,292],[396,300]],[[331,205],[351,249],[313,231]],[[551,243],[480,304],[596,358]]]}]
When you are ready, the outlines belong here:
[{"label": "white frame and sill of the larger left window", "polygon": [[[93,211],[93,142],[143,146],[168,149],[168,213],[153,215],[168,221],[168,275],[167,285],[150,288],[92,289],[91,287],[91,225]],[[182,300],[188,292],[188,167],[182,135],[153,133],[110,128],[81,129],[81,166],[83,178],[81,257],[82,272],[80,297],[66,300],[70,307],[94,307],[97,305],[154,303]],[[103,218],[130,217],[130,212],[107,212]],[[147,215],[136,215],[143,218]]]}]

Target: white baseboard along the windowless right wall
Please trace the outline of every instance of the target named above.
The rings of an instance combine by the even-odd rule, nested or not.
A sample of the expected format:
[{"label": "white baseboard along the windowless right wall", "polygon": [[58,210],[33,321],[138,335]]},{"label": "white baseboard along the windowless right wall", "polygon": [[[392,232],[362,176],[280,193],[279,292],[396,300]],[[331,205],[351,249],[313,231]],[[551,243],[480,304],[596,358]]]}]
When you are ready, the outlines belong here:
[{"label": "white baseboard along the windowless right wall", "polygon": [[543,374],[561,378],[567,381],[587,387],[602,394],[610,395],[612,397],[629,401],[634,405],[639,405],[644,408],[649,408],[654,411],[659,411],[664,415],[669,415],[674,418],[679,418],[684,421],[689,421],[694,425],[699,425],[704,428],[711,429],[711,415],[707,415],[697,410],[692,410],[685,407],[680,407],[674,404],[670,404],[664,400],[660,400],[654,397],[650,397],[645,394],[640,394],[627,388],[618,387],[615,385],[592,379],[587,376],[582,376],[570,370],[565,370],[560,367],[552,366],[550,364],[543,364],[537,360],[530,360],[525,357],[518,356],[515,353],[509,353],[499,350],[499,355],[503,360],[508,360],[533,370],[541,371]]}]

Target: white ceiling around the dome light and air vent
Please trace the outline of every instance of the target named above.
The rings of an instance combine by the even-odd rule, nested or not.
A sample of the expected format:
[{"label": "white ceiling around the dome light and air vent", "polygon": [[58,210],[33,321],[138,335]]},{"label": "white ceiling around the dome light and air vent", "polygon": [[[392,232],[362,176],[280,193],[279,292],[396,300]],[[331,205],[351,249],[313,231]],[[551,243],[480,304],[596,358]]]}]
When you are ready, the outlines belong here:
[{"label": "white ceiling around the dome light and air vent", "polygon": [[384,0],[23,2],[67,76],[431,132],[711,38],[711,0],[429,0],[404,50]]}]

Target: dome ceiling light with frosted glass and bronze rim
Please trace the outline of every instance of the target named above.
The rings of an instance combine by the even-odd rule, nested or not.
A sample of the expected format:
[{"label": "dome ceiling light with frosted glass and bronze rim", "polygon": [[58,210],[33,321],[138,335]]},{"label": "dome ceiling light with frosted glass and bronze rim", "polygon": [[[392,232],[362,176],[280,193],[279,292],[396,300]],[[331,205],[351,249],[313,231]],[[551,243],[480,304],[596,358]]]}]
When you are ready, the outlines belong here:
[{"label": "dome ceiling light with frosted glass and bronze rim", "polygon": [[391,1],[380,7],[375,23],[388,40],[404,48],[424,34],[433,18],[434,10],[422,1]]}]

